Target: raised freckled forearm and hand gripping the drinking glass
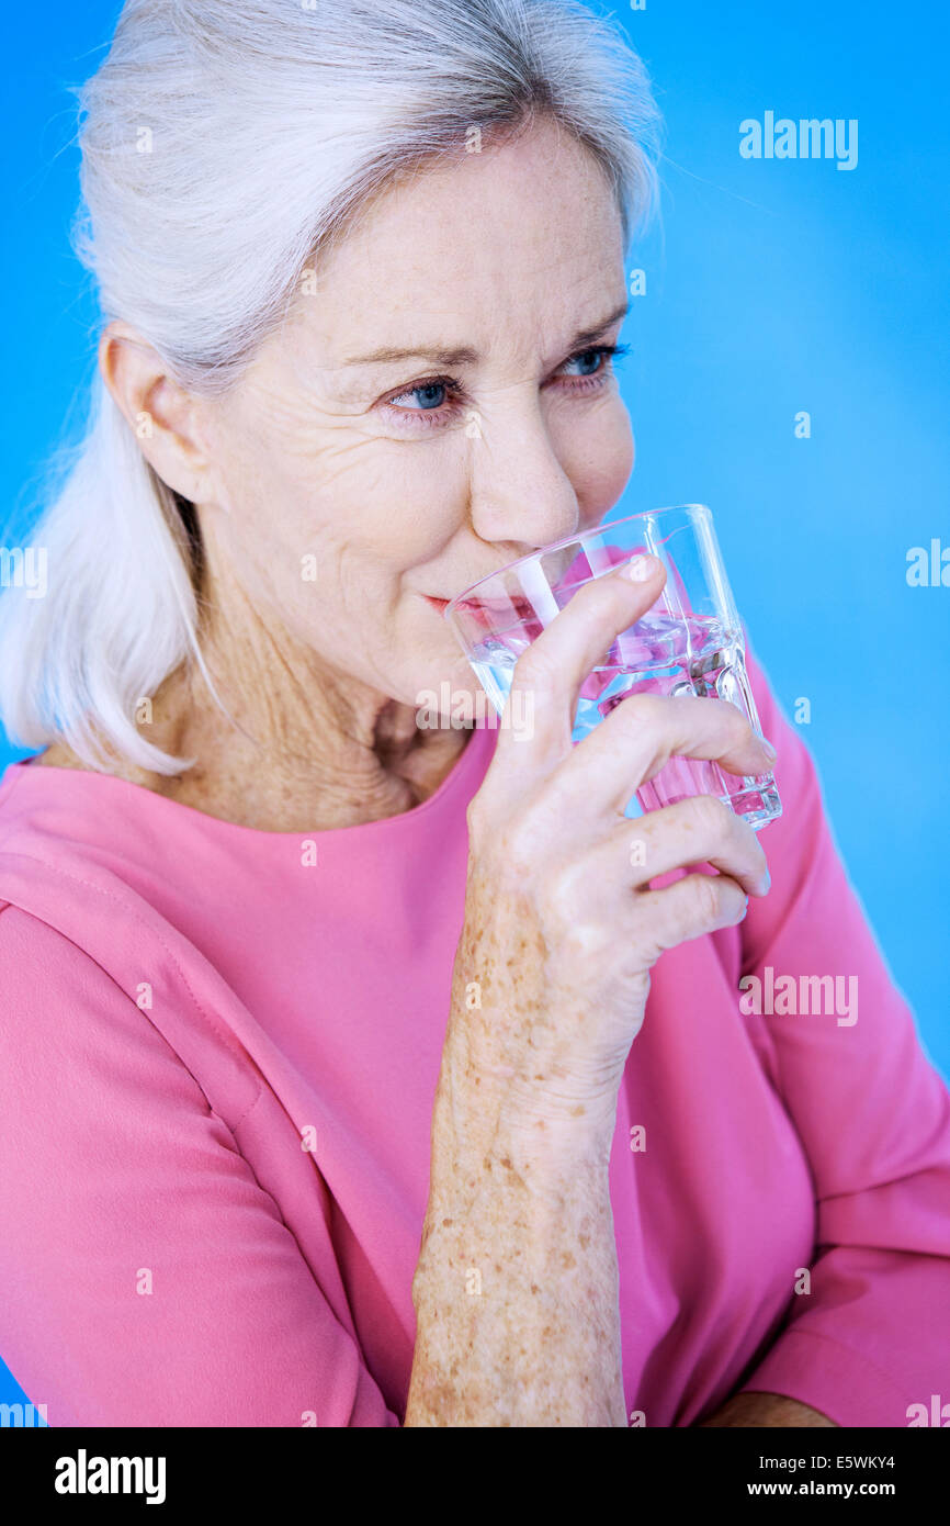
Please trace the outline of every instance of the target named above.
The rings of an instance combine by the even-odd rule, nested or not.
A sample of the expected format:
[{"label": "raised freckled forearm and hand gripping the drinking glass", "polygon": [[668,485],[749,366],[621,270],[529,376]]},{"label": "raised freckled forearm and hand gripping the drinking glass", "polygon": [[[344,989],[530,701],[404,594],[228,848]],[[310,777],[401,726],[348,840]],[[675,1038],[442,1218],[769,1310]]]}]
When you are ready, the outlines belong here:
[{"label": "raised freckled forearm and hand gripping the drinking glass", "polygon": [[[672,754],[770,768],[732,705],[630,697],[572,745],[584,678],[662,583],[659,563],[598,578],[525,652],[514,684],[534,736],[502,726],[468,809],[407,1427],[627,1425],[608,1181],[621,1076],[660,952],[738,922],[767,888],[755,833],[721,801],[624,816]],[[650,890],[703,861],[720,874]]]}]

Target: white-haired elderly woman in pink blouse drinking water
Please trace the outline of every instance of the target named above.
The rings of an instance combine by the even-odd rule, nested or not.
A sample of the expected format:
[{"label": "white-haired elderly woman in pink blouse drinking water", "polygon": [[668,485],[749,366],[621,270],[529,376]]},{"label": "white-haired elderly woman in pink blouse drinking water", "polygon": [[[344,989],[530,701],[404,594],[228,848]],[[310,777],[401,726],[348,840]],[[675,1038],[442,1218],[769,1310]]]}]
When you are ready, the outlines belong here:
[{"label": "white-haired elderly woman in pink blouse drinking water", "polygon": [[[127,0],[84,87],[90,429],[3,600],[0,1351],[52,1425],[906,1425],[950,1106],[761,670],[578,687],[447,598],[599,523],[657,114],[573,0]],[[653,156],[653,157],[651,157]],[[752,897],[752,899],[749,899]],[[857,977],[860,1013],[743,977]],[[857,1018],[857,1021],[854,1021]]]}]

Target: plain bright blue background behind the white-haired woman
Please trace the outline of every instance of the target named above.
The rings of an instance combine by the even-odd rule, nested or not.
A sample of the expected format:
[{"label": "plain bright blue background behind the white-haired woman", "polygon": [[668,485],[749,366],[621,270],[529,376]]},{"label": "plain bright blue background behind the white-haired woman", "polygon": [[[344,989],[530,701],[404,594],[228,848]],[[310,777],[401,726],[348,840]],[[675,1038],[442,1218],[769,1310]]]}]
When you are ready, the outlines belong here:
[{"label": "plain bright blue background behind the white-haired woman", "polygon": [[[756,656],[788,719],[811,702],[801,729],[840,852],[950,1076],[950,588],[906,581],[910,546],[950,546],[942,15],[920,0],[613,9],[666,121],[662,221],[630,261],[647,295],[622,334],[637,459],[616,513],[712,507]],[[27,539],[38,473],[93,372],[64,85],[98,66],[117,12],[55,0],[6,17],[2,545]],[[857,168],[741,159],[740,122],[767,110],[857,118]],[[794,436],[802,409],[810,439]],[[20,755],[0,745],[0,768]],[[0,1401],[17,1399],[0,1373]]]}]

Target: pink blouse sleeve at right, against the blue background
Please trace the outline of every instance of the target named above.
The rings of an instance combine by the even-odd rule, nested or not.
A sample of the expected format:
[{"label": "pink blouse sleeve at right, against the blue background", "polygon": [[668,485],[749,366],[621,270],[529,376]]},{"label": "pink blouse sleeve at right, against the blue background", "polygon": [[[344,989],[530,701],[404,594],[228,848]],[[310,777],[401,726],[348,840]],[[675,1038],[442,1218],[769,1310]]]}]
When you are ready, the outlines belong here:
[{"label": "pink blouse sleeve at right, against the blue background", "polygon": [[[810,1291],[741,1390],[787,1395],[839,1425],[903,1427],[910,1405],[950,1399],[950,1094],[848,882],[801,734],[755,659],[749,671],[784,815],[762,832],[770,893],[741,923],[743,1010],[767,1030],[811,1163],[817,1233]],[[769,998],[788,975],[796,1015]]]}]

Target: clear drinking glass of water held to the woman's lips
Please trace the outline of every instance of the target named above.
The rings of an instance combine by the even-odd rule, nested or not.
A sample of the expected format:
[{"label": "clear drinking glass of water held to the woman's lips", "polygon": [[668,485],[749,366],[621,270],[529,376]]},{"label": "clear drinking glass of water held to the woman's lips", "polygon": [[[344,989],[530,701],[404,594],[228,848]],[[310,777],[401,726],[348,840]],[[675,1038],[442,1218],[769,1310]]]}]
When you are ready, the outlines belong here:
[{"label": "clear drinking glass of water held to the woman's lips", "polygon": [[[743,627],[706,504],[654,508],[569,536],[450,600],[444,618],[499,716],[518,656],[569,598],[645,551],[663,563],[666,581],[651,609],[615,638],[584,681],[572,740],[581,742],[628,694],[724,699],[762,736]],[[737,775],[714,760],[674,757],[640,784],[624,815],[639,816],[691,795],[718,795],[755,830],[782,813],[773,774]]]}]

